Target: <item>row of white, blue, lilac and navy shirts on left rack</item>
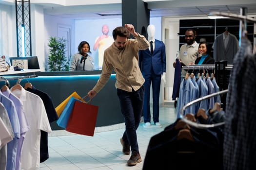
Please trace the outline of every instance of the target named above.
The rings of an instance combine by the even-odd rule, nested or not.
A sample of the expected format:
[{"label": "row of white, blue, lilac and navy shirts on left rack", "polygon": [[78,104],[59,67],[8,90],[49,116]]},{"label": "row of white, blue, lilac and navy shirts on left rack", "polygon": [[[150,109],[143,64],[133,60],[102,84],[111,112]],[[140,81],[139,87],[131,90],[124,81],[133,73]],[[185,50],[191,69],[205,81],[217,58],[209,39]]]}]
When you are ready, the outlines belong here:
[{"label": "row of white, blue, lilac and navy shirts on left rack", "polygon": [[30,83],[22,87],[20,81],[10,89],[3,85],[0,90],[0,117],[12,138],[1,145],[0,170],[38,169],[49,157],[50,123],[58,119],[50,96]]}]

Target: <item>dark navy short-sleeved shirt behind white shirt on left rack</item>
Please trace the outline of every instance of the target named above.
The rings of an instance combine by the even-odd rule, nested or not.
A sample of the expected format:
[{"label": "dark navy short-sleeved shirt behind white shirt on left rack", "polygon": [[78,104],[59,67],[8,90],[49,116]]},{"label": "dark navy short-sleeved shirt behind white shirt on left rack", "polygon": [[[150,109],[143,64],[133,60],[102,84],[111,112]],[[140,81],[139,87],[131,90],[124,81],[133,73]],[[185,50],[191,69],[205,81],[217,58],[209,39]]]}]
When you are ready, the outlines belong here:
[{"label": "dark navy short-sleeved shirt behind white shirt on left rack", "polygon": [[[47,113],[49,123],[59,119],[59,117],[56,113],[55,107],[53,105],[52,99],[48,94],[40,91],[39,89],[35,88],[34,86],[32,86],[32,88],[26,88],[26,90],[38,95],[42,99],[46,113]],[[40,163],[46,161],[48,158],[49,158],[48,133],[41,130]]]}]

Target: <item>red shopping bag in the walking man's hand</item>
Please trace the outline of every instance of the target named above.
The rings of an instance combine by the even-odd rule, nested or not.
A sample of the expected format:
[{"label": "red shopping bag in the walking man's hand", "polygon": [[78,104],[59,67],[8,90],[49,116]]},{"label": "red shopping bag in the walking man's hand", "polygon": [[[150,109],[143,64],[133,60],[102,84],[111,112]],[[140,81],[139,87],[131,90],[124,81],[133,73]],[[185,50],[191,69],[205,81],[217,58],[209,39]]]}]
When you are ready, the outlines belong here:
[{"label": "red shopping bag in the walking man's hand", "polygon": [[88,102],[75,101],[66,131],[80,135],[93,136],[97,115],[98,106]]}]

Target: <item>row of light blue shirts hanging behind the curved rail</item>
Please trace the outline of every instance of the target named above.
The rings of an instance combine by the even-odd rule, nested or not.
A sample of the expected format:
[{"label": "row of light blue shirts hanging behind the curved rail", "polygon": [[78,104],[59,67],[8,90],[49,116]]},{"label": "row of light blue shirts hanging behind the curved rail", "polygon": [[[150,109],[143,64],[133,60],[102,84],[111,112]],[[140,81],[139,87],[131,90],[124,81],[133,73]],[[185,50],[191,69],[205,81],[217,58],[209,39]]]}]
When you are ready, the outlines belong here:
[{"label": "row of light blue shirts hanging behind the curved rail", "polygon": [[184,113],[180,113],[181,108],[188,102],[196,100],[199,97],[213,94],[219,91],[214,73],[209,74],[198,73],[197,78],[194,73],[186,74],[186,77],[181,81],[179,88],[179,98],[177,102],[177,118],[180,118],[180,114],[185,115],[187,113],[196,114],[199,108],[208,110],[214,107],[216,102],[221,103],[220,96],[210,98],[209,100],[201,101],[198,104],[188,107]]}]

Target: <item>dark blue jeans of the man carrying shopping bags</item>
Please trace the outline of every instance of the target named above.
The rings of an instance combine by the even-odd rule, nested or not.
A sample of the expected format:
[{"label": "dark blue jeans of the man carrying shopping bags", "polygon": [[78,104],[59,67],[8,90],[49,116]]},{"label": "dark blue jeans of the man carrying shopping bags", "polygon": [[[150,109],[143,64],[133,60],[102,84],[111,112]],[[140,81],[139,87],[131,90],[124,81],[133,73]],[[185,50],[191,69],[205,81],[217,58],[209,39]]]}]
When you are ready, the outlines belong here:
[{"label": "dark blue jeans of the man carrying shopping bags", "polygon": [[132,152],[139,152],[136,130],[142,114],[144,85],[132,92],[118,89],[118,98],[125,121],[125,131],[122,138],[124,143],[129,143]]}]

